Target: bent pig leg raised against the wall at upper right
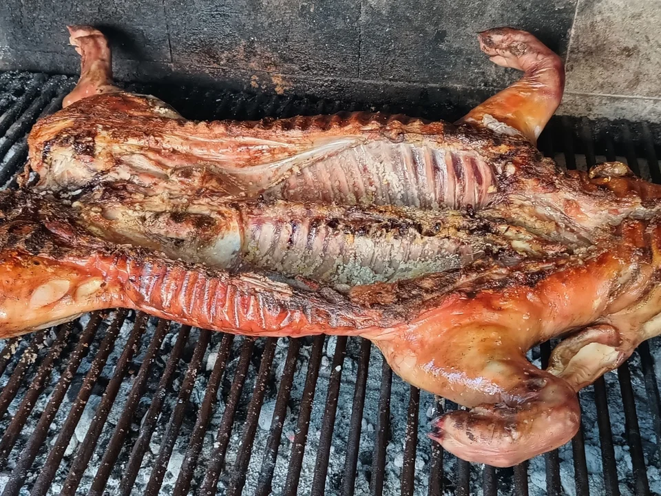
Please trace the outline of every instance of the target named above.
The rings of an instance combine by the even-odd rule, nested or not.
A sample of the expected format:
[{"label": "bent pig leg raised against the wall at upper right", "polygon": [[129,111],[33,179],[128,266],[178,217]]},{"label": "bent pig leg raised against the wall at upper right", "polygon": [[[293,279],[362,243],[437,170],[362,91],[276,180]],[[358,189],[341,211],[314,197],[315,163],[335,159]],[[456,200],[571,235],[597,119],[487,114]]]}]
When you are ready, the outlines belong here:
[{"label": "bent pig leg raised against the wall at upper right", "polygon": [[459,123],[521,134],[536,144],[565,89],[562,59],[532,34],[512,28],[479,33],[480,48],[497,65],[524,72],[516,83],[478,105]]}]

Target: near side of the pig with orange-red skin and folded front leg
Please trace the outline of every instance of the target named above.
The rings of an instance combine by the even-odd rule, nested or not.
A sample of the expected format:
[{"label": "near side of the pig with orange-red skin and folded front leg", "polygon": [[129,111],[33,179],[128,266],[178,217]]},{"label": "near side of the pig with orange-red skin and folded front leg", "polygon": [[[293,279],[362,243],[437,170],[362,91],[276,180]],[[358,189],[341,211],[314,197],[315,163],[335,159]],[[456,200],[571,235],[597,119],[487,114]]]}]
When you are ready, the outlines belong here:
[{"label": "near side of the pig with orange-red skin and folded front leg", "polygon": [[[109,307],[253,335],[363,335],[405,380],[473,407],[441,417],[433,434],[466,459],[510,465],[566,442],[579,424],[574,391],[661,333],[661,229],[644,221],[574,255],[512,267],[481,260],[344,295],[115,245],[79,227],[72,209],[1,195],[3,337]],[[575,330],[550,372],[525,359]]]}]

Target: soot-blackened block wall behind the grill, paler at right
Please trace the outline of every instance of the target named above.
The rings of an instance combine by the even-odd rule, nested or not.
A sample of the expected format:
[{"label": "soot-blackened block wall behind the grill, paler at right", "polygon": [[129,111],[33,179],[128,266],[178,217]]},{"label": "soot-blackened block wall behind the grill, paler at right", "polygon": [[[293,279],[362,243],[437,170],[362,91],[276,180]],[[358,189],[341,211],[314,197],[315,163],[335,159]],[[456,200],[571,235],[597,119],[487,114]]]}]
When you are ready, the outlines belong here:
[{"label": "soot-blackened block wall behind the grill, paler at right", "polygon": [[661,0],[3,0],[0,70],[76,74],[72,23],[109,36],[126,81],[406,105],[516,79],[475,38],[511,25],[565,58],[560,113],[661,121]]}]

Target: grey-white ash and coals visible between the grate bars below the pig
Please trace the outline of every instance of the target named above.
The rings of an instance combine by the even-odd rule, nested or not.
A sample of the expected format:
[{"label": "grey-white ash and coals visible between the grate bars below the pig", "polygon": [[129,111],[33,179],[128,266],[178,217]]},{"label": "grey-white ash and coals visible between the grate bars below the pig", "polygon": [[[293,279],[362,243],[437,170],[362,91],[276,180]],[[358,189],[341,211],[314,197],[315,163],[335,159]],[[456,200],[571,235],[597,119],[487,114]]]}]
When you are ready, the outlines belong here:
[{"label": "grey-white ash and coals visible between the grate bars below the pig", "polygon": [[[89,321],[89,316],[83,316],[76,323],[76,337],[80,335],[85,325]],[[110,353],[107,363],[105,364],[101,377],[92,389],[92,395],[89,400],[81,418],[74,429],[72,436],[67,440],[66,451],[63,457],[63,462],[56,473],[56,477],[50,489],[52,495],[59,493],[68,469],[70,468],[76,453],[81,446],[81,442],[85,439],[90,424],[96,415],[98,404],[100,404],[105,387],[108,382],[112,380],[114,375],[115,366],[123,352],[124,345],[129,339],[132,332],[132,322],[134,316],[131,315],[127,322],[123,325],[117,338],[116,346],[112,353]],[[45,442],[46,446],[50,449],[57,440],[61,429],[65,424],[67,415],[70,412],[76,396],[81,390],[81,385],[85,375],[90,371],[90,364],[96,354],[98,347],[105,335],[108,321],[104,321],[101,325],[101,330],[98,332],[96,338],[90,345],[89,354],[83,360],[76,375],[72,380],[69,390],[65,395],[63,404],[57,411],[54,419],[51,422],[48,438]],[[92,484],[96,467],[105,453],[105,448],[114,433],[115,426],[123,413],[126,405],[127,398],[132,391],[134,380],[138,374],[140,364],[142,363],[151,337],[156,328],[156,319],[150,319],[145,334],[140,340],[140,347],[136,351],[132,362],[129,364],[129,373],[123,378],[123,382],[116,395],[116,399],[109,412],[107,422],[103,427],[98,443],[90,466],[85,471],[81,485],[78,488],[78,493],[86,493]],[[162,376],[162,371],[165,369],[169,355],[174,348],[180,327],[174,325],[168,329],[167,335],[162,342],[162,346],[157,353],[156,361],[152,366],[151,373],[149,373],[147,380],[147,394],[144,395],[134,411],[132,422],[129,427],[129,433],[123,451],[120,453],[120,459],[123,462],[117,464],[114,468],[112,475],[106,487],[107,494],[115,494],[120,484],[120,479],[123,475],[125,463],[130,450],[136,441],[140,426],[145,421],[145,415],[154,397],[154,391]],[[54,336],[48,336],[46,340],[47,345],[52,344]],[[134,494],[142,494],[149,482],[151,476],[151,469],[156,462],[156,458],[160,453],[161,444],[165,431],[170,422],[171,414],[176,409],[178,404],[178,394],[180,386],[187,373],[188,364],[193,354],[193,349],[198,342],[199,331],[193,329],[189,335],[186,347],[182,353],[181,359],[178,360],[175,371],[171,378],[171,384],[165,391],[165,400],[160,409],[160,416],[151,436],[149,446],[143,457],[138,477],[134,484]],[[30,336],[22,340],[17,348],[17,355],[20,355],[25,347],[28,346]],[[204,401],[206,393],[206,386],[216,365],[218,359],[218,351],[220,349],[220,334],[214,334],[211,338],[211,344],[207,348],[204,355],[202,364],[200,366],[200,373],[196,379],[193,390],[189,397],[188,402],[185,404],[185,415],[182,426],[179,431],[179,436],[174,444],[171,456],[167,461],[167,469],[163,477],[161,495],[169,495],[174,489],[178,474],[185,459],[185,455],[189,448],[189,438],[193,431],[193,426],[197,420],[197,412]],[[52,393],[57,381],[61,378],[61,374],[65,370],[68,362],[67,358],[77,343],[77,338],[72,338],[70,346],[67,348],[63,355],[63,360],[58,360],[56,366],[52,371],[50,380],[45,386],[43,393],[35,402],[34,410],[28,418],[28,421],[21,432],[16,446],[12,451],[8,464],[3,471],[0,471],[0,490],[6,484],[10,471],[17,461],[19,453],[21,452],[25,442],[34,430],[39,416],[48,404],[50,394]],[[225,372],[219,386],[218,397],[213,404],[213,413],[209,419],[207,431],[204,434],[202,442],[202,449],[198,459],[198,465],[193,475],[191,488],[195,493],[204,478],[205,468],[212,455],[213,449],[218,446],[216,435],[218,427],[222,420],[222,415],[225,410],[225,402],[231,388],[231,383],[238,365],[240,353],[244,338],[237,337],[233,341],[230,358],[226,364]],[[255,342],[251,363],[249,366],[248,374],[243,381],[243,389],[240,395],[240,401],[234,415],[234,424],[231,431],[231,437],[227,447],[225,457],[225,470],[220,475],[218,482],[218,494],[223,494],[233,475],[232,466],[237,458],[238,449],[240,449],[240,442],[243,434],[243,426],[246,420],[247,409],[253,389],[257,380],[257,373],[260,366],[261,353],[264,349],[265,340],[258,340]],[[255,429],[255,438],[252,446],[252,455],[249,462],[248,470],[246,472],[246,483],[244,486],[243,494],[251,495],[255,492],[258,477],[262,466],[262,459],[266,453],[266,442],[269,439],[270,429],[273,427],[273,413],[275,412],[275,402],[277,398],[278,386],[282,375],[284,373],[284,366],[286,362],[286,355],[288,353],[289,340],[287,338],[280,338],[277,340],[275,347],[275,358],[273,366],[271,366],[271,373],[269,380],[266,382],[266,389],[264,391],[264,402],[260,409],[257,426]],[[297,356],[297,363],[293,378],[293,386],[291,396],[289,398],[286,414],[284,418],[284,425],[282,426],[282,434],[280,435],[280,446],[278,448],[275,468],[273,471],[273,494],[277,495],[284,490],[284,484],[288,472],[288,464],[291,459],[291,446],[297,429],[298,413],[300,411],[300,404],[303,389],[306,382],[306,374],[308,371],[308,363],[312,349],[312,340],[306,338],[302,343],[300,352]],[[0,346],[3,344],[0,343]],[[659,340],[651,340],[650,347],[655,362],[655,371],[658,380],[661,381],[661,344]],[[43,360],[43,357],[48,353],[48,346],[39,351],[38,363]],[[308,428],[308,440],[304,451],[304,458],[302,462],[302,470],[299,481],[299,494],[307,495],[311,493],[313,484],[313,477],[315,472],[315,462],[317,459],[317,451],[319,448],[322,422],[324,415],[328,413],[326,407],[326,395],[328,394],[328,379],[330,373],[333,371],[333,357],[337,349],[337,338],[327,338],[322,349],[322,360],[319,369],[319,379],[315,387],[315,397],[313,408],[311,412],[311,422]],[[339,388],[339,397],[337,400],[337,411],[335,415],[335,423],[333,428],[333,441],[330,446],[330,453],[328,456],[328,475],[326,477],[326,494],[338,494],[342,488],[342,478],[345,471],[345,458],[346,446],[350,434],[350,421],[353,410],[353,397],[355,390],[355,380],[359,365],[359,351],[360,340],[356,338],[348,339],[346,349],[346,359],[339,367],[339,372],[342,375],[342,381]],[[540,365],[539,354],[529,353],[529,358],[536,364]],[[4,386],[10,376],[11,371],[15,366],[15,360],[12,361],[6,373],[0,378],[0,386]],[[360,442],[359,452],[357,459],[357,469],[355,476],[355,494],[368,495],[370,494],[369,484],[372,472],[372,457],[374,442],[377,434],[378,426],[378,413],[379,413],[379,393],[381,389],[381,366],[382,358],[378,351],[373,347],[372,354],[370,355],[370,363],[368,368],[368,380],[366,384],[366,395],[364,402],[364,413],[361,418],[360,426]],[[640,369],[640,359],[638,355],[634,355],[631,360],[631,378],[633,384],[633,391],[636,395],[636,407],[638,413],[638,424],[640,427],[640,437],[644,456],[647,462],[648,471],[647,476],[649,479],[650,489],[652,493],[661,493],[661,474],[660,474],[660,457],[658,455],[657,440],[653,431],[653,424],[651,414],[647,406],[647,396],[644,389],[644,382],[642,372]],[[34,375],[34,366],[30,369],[30,373]],[[618,471],[618,479],[620,481],[620,493],[622,495],[633,495],[633,469],[631,466],[631,456],[629,455],[629,445],[627,443],[627,434],[625,433],[625,416],[622,410],[622,400],[620,396],[620,386],[618,383],[618,376],[616,373],[608,373],[605,376],[607,386],[607,396],[609,402],[609,413],[611,420],[611,430],[613,433],[613,445],[616,456],[616,464]],[[27,382],[25,382],[27,384]],[[12,416],[16,413],[21,397],[25,394],[25,385],[19,389],[17,398],[11,402],[8,407],[8,415],[0,420],[0,429],[6,429]],[[400,493],[400,479],[401,472],[404,466],[404,449],[406,446],[406,415],[408,411],[408,402],[410,397],[410,386],[400,380],[396,375],[392,377],[392,392],[390,396],[390,434],[388,436],[388,446],[386,447],[386,465],[384,472],[384,494],[399,494]],[[583,406],[583,425],[585,435],[585,451],[587,459],[587,470],[589,473],[589,484],[591,494],[603,494],[605,488],[603,485],[603,467],[601,460],[600,442],[598,424],[596,421],[596,407],[594,402],[594,388],[589,387],[580,393],[580,400]],[[431,447],[432,442],[426,437],[429,428],[429,422],[437,416],[437,411],[434,406],[434,397],[428,393],[421,392],[419,404],[419,426],[417,430],[417,451],[415,455],[415,495],[427,495],[429,488],[430,478],[430,462],[431,462]],[[36,458],[25,487],[21,490],[21,495],[27,495],[29,488],[34,484],[34,481],[39,474],[39,469],[45,457],[48,456],[48,450],[42,449]],[[562,484],[563,493],[566,495],[574,495],[576,492],[574,483],[574,462],[572,459],[571,444],[563,446],[559,450],[560,459],[560,480]],[[443,458],[443,486],[444,494],[454,493],[454,487],[457,480],[456,475],[457,461],[454,457],[445,453]],[[509,495],[512,494],[512,471],[511,470],[498,470],[496,471],[499,485],[499,494]],[[529,493],[530,495],[538,496],[547,493],[546,486],[546,472],[545,472],[545,458],[536,457],[529,462]],[[481,466],[472,466],[470,468],[470,493],[481,495],[482,493],[482,473]]]}]

